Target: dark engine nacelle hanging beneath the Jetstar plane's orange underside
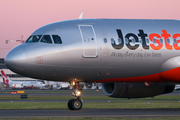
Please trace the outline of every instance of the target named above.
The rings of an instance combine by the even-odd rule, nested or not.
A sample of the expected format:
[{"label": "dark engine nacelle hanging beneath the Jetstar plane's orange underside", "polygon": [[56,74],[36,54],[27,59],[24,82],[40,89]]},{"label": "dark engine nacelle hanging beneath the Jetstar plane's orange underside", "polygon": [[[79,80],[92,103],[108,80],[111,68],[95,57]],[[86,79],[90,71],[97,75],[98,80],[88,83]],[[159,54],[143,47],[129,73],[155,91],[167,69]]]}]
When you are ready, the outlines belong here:
[{"label": "dark engine nacelle hanging beneath the Jetstar plane's orange underside", "polygon": [[143,98],[170,93],[173,83],[102,83],[104,93],[115,98]]}]

